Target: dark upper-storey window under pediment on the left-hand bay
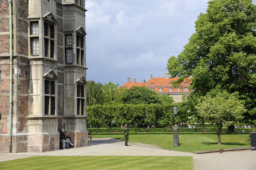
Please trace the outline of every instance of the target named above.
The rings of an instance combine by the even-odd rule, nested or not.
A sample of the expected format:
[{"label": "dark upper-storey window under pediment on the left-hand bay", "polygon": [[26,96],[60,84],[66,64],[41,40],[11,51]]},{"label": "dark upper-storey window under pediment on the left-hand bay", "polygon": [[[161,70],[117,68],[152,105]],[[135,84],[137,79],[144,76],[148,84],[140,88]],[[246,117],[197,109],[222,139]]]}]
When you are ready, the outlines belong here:
[{"label": "dark upper-storey window under pediment on the left-hand bay", "polygon": [[55,28],[53,23],[44,22],[44,56],[54,58]]}]

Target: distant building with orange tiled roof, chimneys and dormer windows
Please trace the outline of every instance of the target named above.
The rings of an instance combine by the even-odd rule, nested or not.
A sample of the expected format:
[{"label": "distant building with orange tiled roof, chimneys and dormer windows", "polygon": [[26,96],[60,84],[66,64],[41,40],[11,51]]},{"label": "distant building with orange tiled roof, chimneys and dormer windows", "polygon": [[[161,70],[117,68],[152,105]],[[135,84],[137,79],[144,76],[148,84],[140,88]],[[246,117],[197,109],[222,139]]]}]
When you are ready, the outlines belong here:
[{"label": "distant building with orange tiled roof, chimneys and dormer windows", "polygon": [[172,81],[177,81],[178,77],[170,78],[168,74],[165,73],[164,77],[153,78],[152,74],[150,80],[146,82],[146,80],[141,80],[141,83],[136,82],[136,79],[133,79],[130,82],[130,78],[127,78],[127,82],[123,84],[121,87],[130,89],[133,85],[135,86],[146,86],[147,88],[156,91],[159,95],[167,94],[173,97],[175,103],[182,102],[183,95],[189,95],[191,90],[190,87],[190,79],[184,79],[183,82],[178,87],[174,87],[172,85]]}]

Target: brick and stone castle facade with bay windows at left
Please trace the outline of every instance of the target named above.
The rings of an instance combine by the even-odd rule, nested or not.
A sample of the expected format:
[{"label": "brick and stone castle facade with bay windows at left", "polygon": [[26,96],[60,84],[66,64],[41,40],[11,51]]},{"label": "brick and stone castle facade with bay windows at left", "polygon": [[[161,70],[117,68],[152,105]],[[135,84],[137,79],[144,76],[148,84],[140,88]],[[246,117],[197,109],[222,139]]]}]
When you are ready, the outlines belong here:
[{"label": "brick and stone castle facade with bay windows at left", "polygon": [[[0,152],[9,150],[9,0],[0,0]],[[12,152],[59,149],[61,128],[88,146],[84,1],[16,0]]]}]

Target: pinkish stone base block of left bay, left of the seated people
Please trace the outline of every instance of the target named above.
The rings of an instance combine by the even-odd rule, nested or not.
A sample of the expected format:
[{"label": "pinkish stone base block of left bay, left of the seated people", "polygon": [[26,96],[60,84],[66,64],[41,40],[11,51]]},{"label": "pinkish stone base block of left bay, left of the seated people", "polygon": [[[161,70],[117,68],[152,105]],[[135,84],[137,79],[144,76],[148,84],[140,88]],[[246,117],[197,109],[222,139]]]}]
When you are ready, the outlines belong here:
[{"label": "pinkish stone base block of left bay, left of the seated people", "polygon": [[28,135],[28,152],[59,150],[59,133]]}]

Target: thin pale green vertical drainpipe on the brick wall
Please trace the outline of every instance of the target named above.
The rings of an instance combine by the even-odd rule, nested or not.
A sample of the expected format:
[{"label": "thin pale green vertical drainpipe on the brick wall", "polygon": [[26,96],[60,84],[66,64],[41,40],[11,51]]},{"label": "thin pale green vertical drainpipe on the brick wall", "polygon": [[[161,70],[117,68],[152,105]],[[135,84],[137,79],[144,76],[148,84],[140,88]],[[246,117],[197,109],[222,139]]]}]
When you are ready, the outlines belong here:
[{"label": "thin pale green vertical drainpipe on the brick wall", "polygon": [[12,41],[12,2],[9,0],[10,21],[10,130],[9,130],[9,153],[12,152],[12,112],[13,112],[13,41]]}]

